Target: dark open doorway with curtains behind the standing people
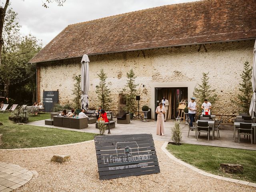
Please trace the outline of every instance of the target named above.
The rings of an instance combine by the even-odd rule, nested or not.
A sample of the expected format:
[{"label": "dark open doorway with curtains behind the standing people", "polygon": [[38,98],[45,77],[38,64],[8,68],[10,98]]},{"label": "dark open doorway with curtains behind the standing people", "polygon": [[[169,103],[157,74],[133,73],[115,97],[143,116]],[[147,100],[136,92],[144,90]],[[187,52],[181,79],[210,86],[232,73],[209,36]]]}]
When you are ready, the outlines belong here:
[{"label": "dark open doorway with curtains behind the standing people", "polygon": [[[174,119],[178,116],[179,102],[182,100],[188,100],[188,88],[187,87],[170,87],[170,88],[155,88],[155,110],[162,98],[165,97],[169,101],[167,119]],[[157,114],[155,113],[155,120],[157,120]]]}]

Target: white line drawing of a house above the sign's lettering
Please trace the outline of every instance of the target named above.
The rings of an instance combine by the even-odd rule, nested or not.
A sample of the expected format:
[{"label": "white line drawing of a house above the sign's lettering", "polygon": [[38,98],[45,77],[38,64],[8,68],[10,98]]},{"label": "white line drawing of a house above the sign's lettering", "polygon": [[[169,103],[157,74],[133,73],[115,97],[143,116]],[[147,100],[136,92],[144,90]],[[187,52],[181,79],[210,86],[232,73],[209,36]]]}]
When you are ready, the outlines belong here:
[{"label": "white line drawing of a house above the sign's lettering", "polygon": [[[124,147],[126,146],[126,147]],[[116,155],[120,153],[128,154],[128,153],[136,153],[136,155],[139,155],[139,146],[136,141],[130,141],[130,142],[117,142],[116,143]]]}]

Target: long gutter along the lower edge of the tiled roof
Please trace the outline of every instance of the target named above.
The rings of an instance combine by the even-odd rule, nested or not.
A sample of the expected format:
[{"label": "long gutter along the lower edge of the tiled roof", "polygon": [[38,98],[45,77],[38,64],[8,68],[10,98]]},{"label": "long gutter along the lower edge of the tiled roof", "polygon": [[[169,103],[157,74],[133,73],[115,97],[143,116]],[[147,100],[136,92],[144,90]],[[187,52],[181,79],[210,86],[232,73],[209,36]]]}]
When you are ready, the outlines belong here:
[{"label": "long gutter along the lower edge of the tiled roof", "polygon": [[[142,48],[142,49],[131,49],[131,50],[123,50],[123,51],[112,51],[112,52],[93,53],[93,54],[88,54],[88,56],[104,55],[104,54],[112,54],[112,53],[122,53],[122,52],[131,52],[131,51],[140,51],[140,50],[149,50],[149,49],[157,49],[157,48],[167,48],[167,47],[179,47],[179,46],[187,46],[187,45],[200,45],[200,44],[211,44],[211,43],[222,43],[222,42],[237,42],[237,41],[253,40],[253,39],[256,39],[256,37],[254,37],[254,38],[245,38],[245,39],[236,39],[236,40],[200,42],[200,43],[190,43],[190,44],[179,44],[179,45],[168,45],[168,46],[160,46],[160,47],[150,47],[150,48]],[[74,59],[74,58],[80,58],[80,57],[82,58],[82,56],[75,56],[75,57],[68,57],[68,58],[60,58],[60,59],[53,59],[53,60],[45,60],[45,61],[40,61],[40,62],[28,62],[28,64],[52,62],[52,61],[59,61],[59,60],[66,60],[66,59]],[[33,57],[33,58],[34,58],[34,57]]]}]

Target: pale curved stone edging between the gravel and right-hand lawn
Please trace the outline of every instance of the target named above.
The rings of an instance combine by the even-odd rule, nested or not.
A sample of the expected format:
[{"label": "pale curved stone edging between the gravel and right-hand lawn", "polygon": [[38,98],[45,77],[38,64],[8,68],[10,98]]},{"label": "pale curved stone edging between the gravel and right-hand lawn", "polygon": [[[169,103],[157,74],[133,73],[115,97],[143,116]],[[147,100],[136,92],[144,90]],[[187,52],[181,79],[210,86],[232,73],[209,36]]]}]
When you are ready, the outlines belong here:
[{"label": "pale curved stone edging between the gravel and right-hand lawn", "polygon": [[195,172],[198,172],[199,174],[202,174],[204,176],[208,176],[208,177],[212,177],[212,178],[215,178],[215,179],[220,179],[220,180],[224,180],[224,181],[228,181],[228,182],[233,182],[233,183],[239,183],[239,184],[243,184],[243,185],[248,185],[248,186],[252,186],[252,187],[256,187],[256,183],[252,183],[252,182],[248,182],[248,181],[242,181],[242,180],[237,180],[237,179],[232,179],[232,178],[227,178],[227,177],[222,177],[222,176],[218,176],[218,175],[214,175],[214,174],[210,174],[210,173],[207,173],[205,171],[202,171],[176,157],[174,157],[167,149],[168,145],[168,142],[164,142],[164,144],[162,145],[161,149],[162,151],[172,160],[194,170]]}]

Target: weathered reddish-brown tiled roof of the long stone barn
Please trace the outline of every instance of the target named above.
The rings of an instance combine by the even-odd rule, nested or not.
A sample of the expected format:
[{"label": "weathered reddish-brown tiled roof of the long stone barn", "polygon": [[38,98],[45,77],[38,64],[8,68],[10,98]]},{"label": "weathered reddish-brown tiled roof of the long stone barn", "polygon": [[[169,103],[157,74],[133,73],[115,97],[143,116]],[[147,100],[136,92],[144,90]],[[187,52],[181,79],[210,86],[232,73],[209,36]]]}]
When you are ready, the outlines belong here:
[{"label": "weathered reddish-brown tiled roof of the long stone barn", "polygon": [[246,38],[256,38],[255,0],[204,0],[69,25],[30,62]]}]

